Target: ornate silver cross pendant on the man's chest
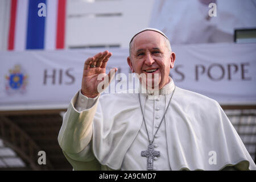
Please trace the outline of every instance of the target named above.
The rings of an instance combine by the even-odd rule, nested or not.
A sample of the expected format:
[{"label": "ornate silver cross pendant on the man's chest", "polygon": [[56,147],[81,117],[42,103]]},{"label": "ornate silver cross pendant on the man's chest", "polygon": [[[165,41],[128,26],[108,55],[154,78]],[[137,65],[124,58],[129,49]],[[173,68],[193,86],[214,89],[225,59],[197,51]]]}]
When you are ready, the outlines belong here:
[{"label": "ornate silver cross pendant on the man's chest", "polygon": [[155,151],[153,143],[150,143],[147,150],[141,151],[141,156],[147,158],[147,170],[153,170],[154,157],[159,157],[160,151]]}]

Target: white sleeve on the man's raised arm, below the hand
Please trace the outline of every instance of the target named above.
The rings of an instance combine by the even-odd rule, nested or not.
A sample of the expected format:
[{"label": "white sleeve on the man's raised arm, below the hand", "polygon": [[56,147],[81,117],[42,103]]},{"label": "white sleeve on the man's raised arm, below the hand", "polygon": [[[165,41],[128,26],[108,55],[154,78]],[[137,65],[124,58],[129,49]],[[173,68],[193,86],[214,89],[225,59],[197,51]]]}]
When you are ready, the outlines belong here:
[{"label": "white sleeve on the man's raised arm, below the hand", "polygon": [[88,98],[79,91],[63,116],[58,142],[63,152],[73,160],[88,162],[94,159],[90,141],[99,97]]}]

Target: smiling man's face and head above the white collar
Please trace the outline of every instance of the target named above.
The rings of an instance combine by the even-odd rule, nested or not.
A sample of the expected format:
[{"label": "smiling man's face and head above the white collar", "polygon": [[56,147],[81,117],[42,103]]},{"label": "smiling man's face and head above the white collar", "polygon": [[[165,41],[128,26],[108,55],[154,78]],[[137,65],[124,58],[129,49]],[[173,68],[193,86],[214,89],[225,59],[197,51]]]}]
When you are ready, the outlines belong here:
[{"label": "smiling man's face and head above the white collar", "polygon": [[174,68],[175,53],[170,53],[166,41],[158,32],[147,30],[135,36],[131,42],[127,63],[133,73],[146,75],[147,86],[157,85],[158,89],[162,89],[170,82],[169,73],[170,68]]}]

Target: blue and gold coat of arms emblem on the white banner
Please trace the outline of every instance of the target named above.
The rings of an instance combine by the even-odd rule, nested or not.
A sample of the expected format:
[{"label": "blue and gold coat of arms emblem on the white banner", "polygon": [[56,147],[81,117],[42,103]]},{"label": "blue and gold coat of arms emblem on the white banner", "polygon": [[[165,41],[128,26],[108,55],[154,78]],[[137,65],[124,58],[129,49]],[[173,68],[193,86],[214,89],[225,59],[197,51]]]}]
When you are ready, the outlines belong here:
[{"label": "blue and gold coat of arms emblem on the white banner", "polygon": [[14,65],[6,75],[5,90],[8,94],[25,93],[27,86],[27,75],[19,64]]}]

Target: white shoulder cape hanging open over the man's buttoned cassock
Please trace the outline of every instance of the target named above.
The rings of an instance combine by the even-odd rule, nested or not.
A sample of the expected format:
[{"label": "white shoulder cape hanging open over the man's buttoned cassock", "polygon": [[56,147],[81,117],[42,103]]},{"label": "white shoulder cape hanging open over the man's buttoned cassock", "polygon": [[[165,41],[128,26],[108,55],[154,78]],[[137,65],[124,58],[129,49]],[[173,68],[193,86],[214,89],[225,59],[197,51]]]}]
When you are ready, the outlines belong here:
[{"label": "white shoulder cape hanging open over the man's buttoned cassock", "polygon": [[[178,88],[165,116],[172,170],[256,169],[237,131],[220,105]],[[93,152],[102,165],[120,169],[142,125],[138,94],[101,96],[93,121]],[[211,156],[216,156],[216,163]]]}]

